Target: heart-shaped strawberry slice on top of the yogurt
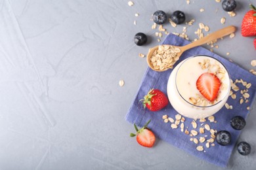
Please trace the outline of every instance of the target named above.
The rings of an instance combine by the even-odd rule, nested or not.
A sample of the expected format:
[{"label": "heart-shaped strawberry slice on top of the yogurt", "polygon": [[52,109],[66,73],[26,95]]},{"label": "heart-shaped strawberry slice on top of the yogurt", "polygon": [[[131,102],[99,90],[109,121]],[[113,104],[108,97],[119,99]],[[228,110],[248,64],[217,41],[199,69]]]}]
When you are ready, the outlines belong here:
[{"label": "heart-shaped strawberry slice on top of the yogurt", "polygon": [[213,73],[203,73],[196,81],[196,88],[208,101],[214,101],[219,93],[221,81]]}]

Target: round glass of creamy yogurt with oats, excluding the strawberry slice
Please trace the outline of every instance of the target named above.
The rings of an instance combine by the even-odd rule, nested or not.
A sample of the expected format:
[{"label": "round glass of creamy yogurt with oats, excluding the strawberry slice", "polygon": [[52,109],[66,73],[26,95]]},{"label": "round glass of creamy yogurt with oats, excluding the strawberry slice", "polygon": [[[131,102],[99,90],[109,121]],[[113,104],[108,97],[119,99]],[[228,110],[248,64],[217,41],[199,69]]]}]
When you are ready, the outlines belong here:
[{"label": "round glass of creamy yogurt with oats, excluding the strawberry slice", "polygon": [[[198,80],[201,75],[207,75],[205,73],[219,79],[219,90],[213,100],[207,99],[198,89]],[[207,83],[205,87],[211,87]],[[226,103],[229,92],[228,71],[220,61],[210,56],[184,59],[173,69],[167,83],[167,95],[173,108],[179,114],[194,119],[206,118],[218,112]]]}]

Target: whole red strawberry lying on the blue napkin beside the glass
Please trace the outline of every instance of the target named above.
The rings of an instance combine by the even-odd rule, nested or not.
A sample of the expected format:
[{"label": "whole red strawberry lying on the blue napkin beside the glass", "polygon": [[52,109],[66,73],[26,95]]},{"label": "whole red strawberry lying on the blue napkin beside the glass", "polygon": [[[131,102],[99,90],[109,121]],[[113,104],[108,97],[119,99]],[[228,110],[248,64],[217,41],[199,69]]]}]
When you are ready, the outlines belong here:
[{"label": "whole red strawberry lying on the blue napkin beside the glass", "polygon": [[158,89],[152,89],[141,99],[144,108],[147,107],[151,111],[158,111],[168,105],[168,98],[165,93]]}]

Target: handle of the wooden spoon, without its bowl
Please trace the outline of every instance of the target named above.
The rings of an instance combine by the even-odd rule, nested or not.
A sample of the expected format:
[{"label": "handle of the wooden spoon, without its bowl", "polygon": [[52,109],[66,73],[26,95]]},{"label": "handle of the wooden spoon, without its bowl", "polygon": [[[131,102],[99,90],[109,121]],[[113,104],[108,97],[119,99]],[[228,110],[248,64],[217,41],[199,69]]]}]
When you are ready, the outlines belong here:
[{"label": "handle of the wooden spoon, without its bowl", "polygon": [[230,33],[234,33],[236,31],[236,27],[230,25],[228,27],[224,27],[223,29],[219,29],[218,31],[215,31],[213,33],[210,33],[209,35],[203,37],[202,39],[199,39],[198,41],[194,41],[190,44],[187,44],[186,46],[182,46],[182,50],[188,50],[190,48],[194,48],[196,46],[200,46],[202,44],[205,44],[207,42],[213,41],[215,39],[219,39],[221,37],[224,37],[226,35],[229,35]]}]

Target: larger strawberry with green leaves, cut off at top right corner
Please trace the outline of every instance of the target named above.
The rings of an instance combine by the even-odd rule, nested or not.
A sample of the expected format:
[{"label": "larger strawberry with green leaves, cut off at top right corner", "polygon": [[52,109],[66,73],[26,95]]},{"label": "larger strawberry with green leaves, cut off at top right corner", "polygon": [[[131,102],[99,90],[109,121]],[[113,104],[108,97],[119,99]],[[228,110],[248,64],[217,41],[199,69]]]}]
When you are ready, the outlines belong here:
[{"label": "larger strawberry with green leaves, cut off at top right corner", "polygon": [[250,5],[250,8],[242,21],[241,33],[244,37],[256,35],[256,8],[253,5]]}]

